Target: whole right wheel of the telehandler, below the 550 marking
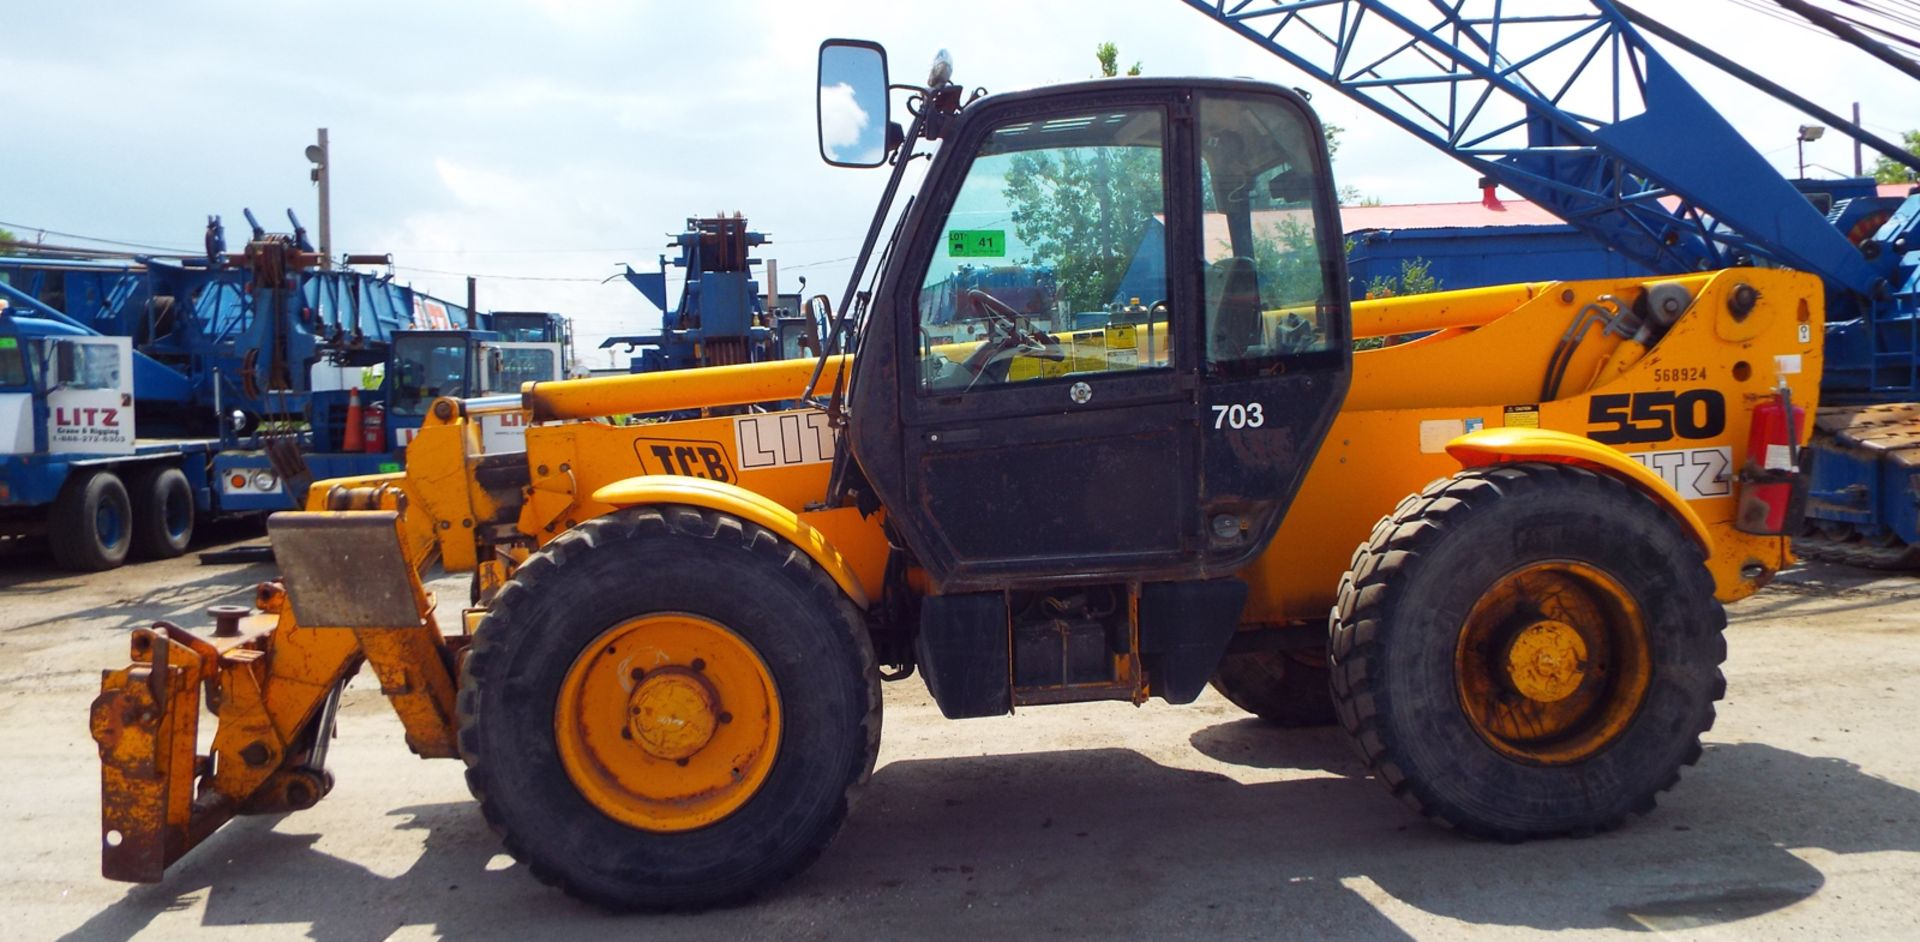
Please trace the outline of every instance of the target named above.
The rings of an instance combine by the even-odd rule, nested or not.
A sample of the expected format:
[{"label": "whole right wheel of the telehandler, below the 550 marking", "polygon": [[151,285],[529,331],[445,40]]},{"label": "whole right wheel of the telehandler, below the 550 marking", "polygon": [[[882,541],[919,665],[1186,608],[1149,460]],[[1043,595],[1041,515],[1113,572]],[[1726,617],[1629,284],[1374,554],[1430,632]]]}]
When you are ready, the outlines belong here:
[{"label": "whole right wheel of the telehandler, below the 550 marking", "polygon": [[1567,464],[1465,470],[1354,554],[1334,708],[1425,815],[1498,840],[1603,831],[1699,760],[1724,627],[1701,549],[1653,499]]}]

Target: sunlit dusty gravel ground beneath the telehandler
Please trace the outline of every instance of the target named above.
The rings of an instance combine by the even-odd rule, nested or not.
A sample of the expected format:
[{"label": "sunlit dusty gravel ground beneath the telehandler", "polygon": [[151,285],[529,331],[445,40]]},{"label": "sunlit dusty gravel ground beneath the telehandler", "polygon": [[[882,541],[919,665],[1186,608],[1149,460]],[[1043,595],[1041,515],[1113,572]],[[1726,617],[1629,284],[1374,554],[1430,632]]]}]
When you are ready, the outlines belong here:
[{"label": "sunlit dusty gravel ground beneath the telehandler", "polygon": [[1866,940],[1920,923],[1914,577],[1807,566],[1734,606],[1705,758],[1617,833],[1463,840],[1367,781],[1336,729],[1275,731],[1212,693],[947,721],[914,679],[889,685],[879,769],[812,869],[735,909],[609,917],[501,852],[461,764],[413,758],[371,677],[344,700],[319,808],[240,819],[161,884],[100,879],[98,671],[125,664],[129,627],[209,624],[202,608],[273,570],[42,560],[0,547],[10,938]]}]

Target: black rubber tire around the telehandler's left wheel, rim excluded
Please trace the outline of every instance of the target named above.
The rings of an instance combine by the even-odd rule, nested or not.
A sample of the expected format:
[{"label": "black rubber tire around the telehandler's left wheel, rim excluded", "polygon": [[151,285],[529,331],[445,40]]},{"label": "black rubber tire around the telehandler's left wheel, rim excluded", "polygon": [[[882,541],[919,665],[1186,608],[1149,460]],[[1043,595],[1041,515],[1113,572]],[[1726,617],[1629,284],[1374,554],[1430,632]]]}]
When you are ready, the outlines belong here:
[{"label": "black rubber tire around the telehandler's left wheel, rim excluded", "polygon": [[[760,789],[697,831],[601,813],[561,765],[555,700],[574,658],[647,612],[712,618],[774,675],[783,733]],[[879,670],[860,612],[768,530],[691,506],[589,520],[526,560],[461,670],[467,785],[536,879],[609,909],[745,900],[804,869],[839,831],[879,752]]]}]

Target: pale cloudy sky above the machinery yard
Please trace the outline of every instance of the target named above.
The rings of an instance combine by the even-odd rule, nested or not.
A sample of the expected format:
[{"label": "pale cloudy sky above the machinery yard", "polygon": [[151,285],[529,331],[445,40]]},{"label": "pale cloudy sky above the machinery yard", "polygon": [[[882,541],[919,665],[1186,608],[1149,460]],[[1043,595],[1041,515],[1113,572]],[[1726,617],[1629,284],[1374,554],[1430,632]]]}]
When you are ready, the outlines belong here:
[{"label": "pale cloudy sky above the machinery yard", "polygon": [[[1736,0],[1642,0],[1797,92],[1860,102],[1885,136],[1920,127],[1914,82]],[[937,48],[956,81],[1012,90],[1096,73],[1112,40],[1150,75],[1240,75],[1315,90],[1346,127],[1338,182],[1386,201],[1475,200],[1473,171],[1210,23],[1179,0],[8,4],[0,44],[0,224],[190,249],[207,213],[313,226],[301,150],[332,138],[336,251],[390,251],[403,280],[482,307],[572,313],[588,347],[659,315],[622,282],[689,215],[743,211],[781,288],[839,288],[883,175],[826,167],[816,50],[879,40],[897,82]],[[937,12],[939,10],[939,12]],[[1786,171],[1805,119],[1676,63]],[[1845,140],[1807,146],[1851,171]],[[1868,155],[1868,161],[1872,157]],[[54,234],[46,242],[73,242]],[[678,278],[670,274],[672,294]],[[595,363],[605,365],[605,363]]]}]

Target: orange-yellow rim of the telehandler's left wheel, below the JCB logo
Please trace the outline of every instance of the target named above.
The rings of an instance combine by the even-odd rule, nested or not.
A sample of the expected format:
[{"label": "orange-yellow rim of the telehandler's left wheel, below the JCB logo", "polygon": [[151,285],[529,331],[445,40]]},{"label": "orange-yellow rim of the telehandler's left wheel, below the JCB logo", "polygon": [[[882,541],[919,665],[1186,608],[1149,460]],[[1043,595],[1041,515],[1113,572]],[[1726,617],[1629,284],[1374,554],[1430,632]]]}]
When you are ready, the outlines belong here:
[{"label": "orange-yellow rim of the telehandler's left wheel, below the JCB logo", "polygon": [[649,614],[574,658],[553,733],[566,775],[609,817],[693,831],[766,783],[780,750],[780,693],[760,654],[726,625]]}]

